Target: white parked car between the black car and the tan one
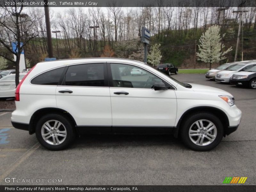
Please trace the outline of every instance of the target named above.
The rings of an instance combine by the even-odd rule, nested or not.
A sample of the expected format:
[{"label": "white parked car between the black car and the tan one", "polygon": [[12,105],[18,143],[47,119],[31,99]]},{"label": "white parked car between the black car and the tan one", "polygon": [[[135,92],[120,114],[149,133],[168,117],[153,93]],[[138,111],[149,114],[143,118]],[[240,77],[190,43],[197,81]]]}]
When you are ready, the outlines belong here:
[{"label": "white parked car between the black car and the tan one", "polygon": [[235,65],[231,65],[225,70],[218,72],[215,76],[215,81],[221,82],[221,83],[230,83],[230,78],[233,74],[239,71],[245,71],[249,68],[252,68],[253,66],[256,66],[255,61],[241,61]]}]

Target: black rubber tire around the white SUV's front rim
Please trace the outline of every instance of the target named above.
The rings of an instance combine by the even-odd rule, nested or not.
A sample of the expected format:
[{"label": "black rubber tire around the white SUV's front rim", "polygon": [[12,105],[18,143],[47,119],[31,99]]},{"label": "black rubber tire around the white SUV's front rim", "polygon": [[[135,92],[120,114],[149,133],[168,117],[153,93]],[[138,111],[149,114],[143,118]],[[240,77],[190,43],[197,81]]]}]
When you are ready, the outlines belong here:
[{"label": "black rubber tire around the white SUV's front rim", "polygon": [[[216,137],[215,139],[208,145],[204,145],[204,146],[200,146],[200,145],[197,145],[195,144],[189,137],[189,129],[190,127],[198,120],[201,120],[201,119],[204,119],[204,120],[208,120],[208,121],[211,121],[216,129],[217,129],[217,132],[216,132]],[[194,125],[196,126],[196,125]],[[203,132],[203,131],[202,131]],[[183,143],[188,147],[188,148],[191,148],[195,151],[208,151],[208,150],[211,150],[213,148],[215,148],[219,143],[220,141],[222,140],[222,137],[223,137],[223,125],[220,121],[220,119],[211,114],[211,113],[198,113],[198,114],[195,114],[195,115],[192,115],[192,116],[189,116],[182,124],[181,124],[181,130],[180,130],[180,136],[181,136],[181,139],[183,141]],[[204,135],[204,134],[203,134]],[[199,138],[200,136],[198,136],[197,138]],[[204,136],[202,136],[204,138]],[[196,138],[196,139],[197,139]],[[205,139],[203,139],[204,141]],[[206,139],[207,141],[207,139]]]}]

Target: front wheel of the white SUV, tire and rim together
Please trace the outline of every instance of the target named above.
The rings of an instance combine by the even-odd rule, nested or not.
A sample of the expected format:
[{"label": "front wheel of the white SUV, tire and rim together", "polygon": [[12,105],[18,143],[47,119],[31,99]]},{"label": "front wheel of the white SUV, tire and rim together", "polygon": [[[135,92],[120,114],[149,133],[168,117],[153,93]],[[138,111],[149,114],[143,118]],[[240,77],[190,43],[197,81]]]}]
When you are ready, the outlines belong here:
[{"label": "front wheel of the white SUV, tire and rim together", "polygon": [[183,122],[180,133],[187,147],[196,151],[208,151],[222,140],[223,125],[211,113],[198,113]]}]

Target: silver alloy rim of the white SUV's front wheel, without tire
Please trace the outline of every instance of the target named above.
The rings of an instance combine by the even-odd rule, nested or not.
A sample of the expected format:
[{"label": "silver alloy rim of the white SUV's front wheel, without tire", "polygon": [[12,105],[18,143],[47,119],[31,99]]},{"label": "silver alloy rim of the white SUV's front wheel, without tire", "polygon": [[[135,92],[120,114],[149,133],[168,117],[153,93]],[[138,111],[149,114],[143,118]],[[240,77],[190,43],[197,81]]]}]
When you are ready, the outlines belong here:
[{"label": "silver alloy rim of the white SUV's front wheel, without tire", "polygon": [[200,119],[190,126],[188,134],[193,143],[199,146],[206,146],[215,140],[217,128],[211,121]]}]

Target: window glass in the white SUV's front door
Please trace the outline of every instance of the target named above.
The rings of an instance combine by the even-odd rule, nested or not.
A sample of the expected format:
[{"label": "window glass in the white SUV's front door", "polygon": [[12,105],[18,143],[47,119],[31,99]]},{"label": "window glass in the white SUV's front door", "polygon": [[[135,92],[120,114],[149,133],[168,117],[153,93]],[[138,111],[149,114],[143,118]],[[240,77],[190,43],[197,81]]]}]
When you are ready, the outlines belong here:
[{"label": "window glass in the white SUV's front door", "polygon": [[[113,87],[152,89],[155,83],[163,82],[162,79],[142,68],[115,63],[111,63],[110,67]],[[122,73],[123,68],[128,69],[127,75]],[[170,87],[168,84],[166,86]]]}]

